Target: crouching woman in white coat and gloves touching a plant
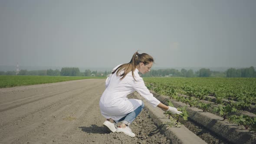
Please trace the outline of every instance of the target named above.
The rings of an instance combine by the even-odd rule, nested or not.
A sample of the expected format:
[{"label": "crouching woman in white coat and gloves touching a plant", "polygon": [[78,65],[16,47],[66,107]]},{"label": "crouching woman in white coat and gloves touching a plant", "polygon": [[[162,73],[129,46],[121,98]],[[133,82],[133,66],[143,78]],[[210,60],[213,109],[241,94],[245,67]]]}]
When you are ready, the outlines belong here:
[{"label": "crouching woman in white coat and gloves touching a plant", "polygon": [[[110,131],[124,132],[130,137],[135,137],[129,125],[144,108],[143,101],[127,98],[127,95],[135,91],[154,107],[158,106],[173,114],[181,113],[177,108],[164,105],[153,97],[138,74],[138,72],[142,74],[149,72],[153,62],[152,56],[146,53],[139,54],[137,51],[129,63],[116,66],[106,79],[106,89],[100,98],[99,106],[102,115],[107,118],[103,125]],[[120,121],[122,123],[117,127]]]}]

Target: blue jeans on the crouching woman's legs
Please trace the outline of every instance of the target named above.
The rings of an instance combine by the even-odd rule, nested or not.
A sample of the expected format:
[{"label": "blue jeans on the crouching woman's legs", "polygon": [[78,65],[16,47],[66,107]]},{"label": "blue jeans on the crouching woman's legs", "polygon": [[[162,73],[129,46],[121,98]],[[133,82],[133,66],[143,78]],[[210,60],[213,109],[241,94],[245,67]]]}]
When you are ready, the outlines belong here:
[{"label": "blue jeans on the crouching woman's legs", "polygon": [[130,125],[132,121],[135,120],[135,118],[140,114],[141,110],[144,108],[144,102],[142,101],[141,106],[135,109],[135,111],[130,112],[125,117],[121,118],[118,121],[115,121],[115,123],[118,123],[120,121],[123,121],[123,124]]}]

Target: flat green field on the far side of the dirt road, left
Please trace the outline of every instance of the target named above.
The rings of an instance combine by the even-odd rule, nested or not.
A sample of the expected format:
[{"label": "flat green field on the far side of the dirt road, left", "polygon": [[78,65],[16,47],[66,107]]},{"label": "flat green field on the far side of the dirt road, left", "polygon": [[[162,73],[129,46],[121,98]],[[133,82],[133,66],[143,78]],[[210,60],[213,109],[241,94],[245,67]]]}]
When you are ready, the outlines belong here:
[{"label": "flat green field on the far side of the dirt road, left", "polygon": [[105,77],[0,75],[0,88],[64,82],[79,79],[105,79]]}]

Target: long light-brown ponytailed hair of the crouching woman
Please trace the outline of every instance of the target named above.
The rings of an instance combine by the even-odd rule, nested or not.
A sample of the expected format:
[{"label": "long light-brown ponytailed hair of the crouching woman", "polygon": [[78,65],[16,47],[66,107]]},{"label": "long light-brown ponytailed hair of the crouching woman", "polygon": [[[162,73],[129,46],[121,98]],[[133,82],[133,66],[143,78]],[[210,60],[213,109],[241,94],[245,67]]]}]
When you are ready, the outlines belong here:
[{"label": "long light-brown ponytailed hair of the crouching woman", "polygon": [[[134,77],[134,71],[136,69],[136,65],[138,65],[140,62],[144,63],[144,65],[147,65],[150,62],[154,62],[154,59],[152,56],[148,55],[147,53],[141,53],[139,54],[138,51],[135,52],[131,58],[131,61],[129,63],[125,63],[122,64],[120,66],[118,66],[118,68],[116,68],[112,74],[114,74],[116,71],[116,75],[117,76],[122,76],[121,80],[125,78],[125,76],[131,72],[133,79],[135,79]],[[119,75],[119,72],[121,72],[122,70],[124,70],[124,73],[122,73],[121,75]],[[135,79],[136,81],[136,79]]]}]

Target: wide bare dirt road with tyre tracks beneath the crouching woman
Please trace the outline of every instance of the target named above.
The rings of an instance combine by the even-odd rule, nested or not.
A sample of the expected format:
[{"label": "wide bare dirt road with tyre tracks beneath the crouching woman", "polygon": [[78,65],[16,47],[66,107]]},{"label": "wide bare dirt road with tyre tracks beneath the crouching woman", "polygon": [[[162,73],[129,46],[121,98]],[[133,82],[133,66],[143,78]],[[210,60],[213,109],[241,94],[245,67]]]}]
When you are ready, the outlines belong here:
[{"label": "wide bare dirt road with tyre tracks beneath the crouching woman", "polygon": [[105,79],[0,89],[0,144],[170,143],[143,110],[131,124],[136,137],[110,133],[98,101]]}]

